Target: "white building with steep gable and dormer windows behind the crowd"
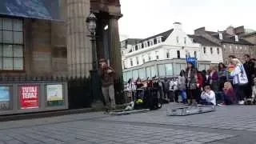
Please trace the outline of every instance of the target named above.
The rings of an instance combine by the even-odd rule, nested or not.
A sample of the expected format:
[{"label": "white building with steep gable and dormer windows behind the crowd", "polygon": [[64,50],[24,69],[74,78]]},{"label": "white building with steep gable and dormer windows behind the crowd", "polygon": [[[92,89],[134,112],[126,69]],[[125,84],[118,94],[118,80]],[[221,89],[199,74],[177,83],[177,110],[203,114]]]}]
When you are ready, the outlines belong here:
[{"label": "white building with steep gable and dormer windows behind the crowd", "polygon": [[220,47],[206,45],[198,41],[198,37],[187,35],[182,30],[182,24],[175,22],[174,29],[139,40],[126,50],[122,49],[125,51],[122,59],[124,80],[178,75],[180,70],[186,68],[186,54],[198,58],[199,70],[208,69],[210,63],[222,62],[222,56],[216,57],[214,53],[206,55],[204,47],[211,47],[212,51],[219,50],[216,54],[222,54]]}]

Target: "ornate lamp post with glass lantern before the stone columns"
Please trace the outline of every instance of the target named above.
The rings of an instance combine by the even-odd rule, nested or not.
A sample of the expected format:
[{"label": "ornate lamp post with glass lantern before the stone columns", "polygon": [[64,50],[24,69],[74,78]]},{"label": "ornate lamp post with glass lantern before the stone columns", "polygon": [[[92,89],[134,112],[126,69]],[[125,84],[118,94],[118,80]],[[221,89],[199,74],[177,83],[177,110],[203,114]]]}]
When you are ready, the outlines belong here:
[{"label": "ornate lamp post with glass lantern before the stone columns", "polygon": [[89,17],[86,18],[87,29],[90,31],[89,37],[92,45],[92,65],[93,69],[90,70],[90,78],[92,85],[92,94],[94,101],[99,100],[100,94],[100,81],[98,75],[98,60],[97,60],[97,50],[96,50],[96,21],[97,18],[93,13],[90,13]]}]

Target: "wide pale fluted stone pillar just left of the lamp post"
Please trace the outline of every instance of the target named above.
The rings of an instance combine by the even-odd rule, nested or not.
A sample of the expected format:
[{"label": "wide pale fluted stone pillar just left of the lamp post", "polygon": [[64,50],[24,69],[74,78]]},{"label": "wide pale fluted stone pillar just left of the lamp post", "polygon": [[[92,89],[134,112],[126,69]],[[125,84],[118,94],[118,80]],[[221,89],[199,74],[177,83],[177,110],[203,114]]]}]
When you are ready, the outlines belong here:
[{"label": "wide pale fluted stone pillar just left of the lamp post", "polygon": [[69,76],[88,77],[92,69],[92,49],[86,18],[90,0],[67,0],[67,64]]}]

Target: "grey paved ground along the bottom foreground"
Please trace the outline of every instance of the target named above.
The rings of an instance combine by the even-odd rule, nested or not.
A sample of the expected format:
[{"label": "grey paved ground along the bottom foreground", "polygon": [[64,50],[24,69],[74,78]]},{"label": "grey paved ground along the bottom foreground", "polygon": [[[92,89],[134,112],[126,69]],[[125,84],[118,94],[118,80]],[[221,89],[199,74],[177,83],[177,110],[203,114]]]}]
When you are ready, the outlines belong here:
[{"label": "grey paved ground along the bottom foreground", "polygon": [[[194,134],[194,135],[190,135]],[[206,137],[215,139],[204,139]],[[0,130],[0,142],[11,144],[64,143],[202,143],[214,142],[234,135],[174,130],[154,126],[133,126],[104,122],[62,122],[53,125]]]}]

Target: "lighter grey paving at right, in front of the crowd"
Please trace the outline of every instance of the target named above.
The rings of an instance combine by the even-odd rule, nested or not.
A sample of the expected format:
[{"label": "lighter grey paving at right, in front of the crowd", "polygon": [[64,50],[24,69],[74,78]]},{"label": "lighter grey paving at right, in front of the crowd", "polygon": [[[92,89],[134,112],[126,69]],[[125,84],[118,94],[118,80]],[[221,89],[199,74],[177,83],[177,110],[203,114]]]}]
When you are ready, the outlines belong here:
[{"label": "lighter grey paving at right, in front of the crowd", "polygon": [[150,111],[144,114],[102,119],[120,122],[148,122],[177,126],[256,131],[256,106],[218,106],[214,112],[185,117],[166,116],[166,109],[170,108],[170,106],[167,105],[162,110]]}]

